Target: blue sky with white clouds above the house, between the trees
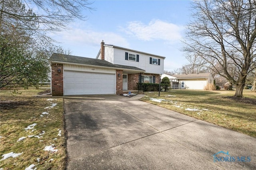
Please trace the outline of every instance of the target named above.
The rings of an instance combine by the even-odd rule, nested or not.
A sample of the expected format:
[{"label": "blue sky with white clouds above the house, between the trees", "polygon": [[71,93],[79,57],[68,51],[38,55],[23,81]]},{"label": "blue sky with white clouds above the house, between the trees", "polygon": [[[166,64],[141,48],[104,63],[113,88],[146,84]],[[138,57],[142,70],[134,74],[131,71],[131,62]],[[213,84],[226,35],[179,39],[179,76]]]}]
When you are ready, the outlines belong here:
[{"label": "blue sky with white clouds above the house, between the trees", "polygon": [[50,35],[71,55],[96,58],[100,43],[166,57],[164,70],[187,64],[182,49],[190,0],[95,0],[85,21]]}]

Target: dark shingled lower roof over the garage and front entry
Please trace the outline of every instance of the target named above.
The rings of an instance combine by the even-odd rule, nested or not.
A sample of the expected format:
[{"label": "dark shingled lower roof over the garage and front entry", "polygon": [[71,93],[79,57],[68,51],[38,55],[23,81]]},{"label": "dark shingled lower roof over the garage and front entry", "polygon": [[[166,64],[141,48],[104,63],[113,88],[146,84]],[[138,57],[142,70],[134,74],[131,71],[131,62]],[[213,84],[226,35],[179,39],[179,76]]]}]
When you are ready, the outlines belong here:
[{"label": "dark shingled lower roof over the garage and front entry", "polygon": [[142,69],[134,67],[134,66],[112,64],[106,60],[92,59],[92,58],[87,58],[87,57],[78,57],[78,56],[74,56],[74,55],[53,53],[49,60],[56,61],[57,63],[64,62],[64,63],[84,64],[84,65],[90,65],[90,66],[110,67],[113,69],[122,68],[122,69],[138,70],[140,72],[145,72],[145,70],[142,70]]}]

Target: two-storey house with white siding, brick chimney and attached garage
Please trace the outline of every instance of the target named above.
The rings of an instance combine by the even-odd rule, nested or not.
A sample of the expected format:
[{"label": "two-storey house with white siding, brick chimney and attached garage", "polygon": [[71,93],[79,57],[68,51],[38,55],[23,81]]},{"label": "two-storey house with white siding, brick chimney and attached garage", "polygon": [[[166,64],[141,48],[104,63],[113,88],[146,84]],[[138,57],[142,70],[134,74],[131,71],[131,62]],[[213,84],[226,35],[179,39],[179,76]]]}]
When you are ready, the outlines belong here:
[{"label": "two-storey house with white siding, brick chimney and attached garage", "polygon": [[101,42],[96,59],[54,53],[52,96],[123,94],[138,82],[159,83],[165,57]]}]

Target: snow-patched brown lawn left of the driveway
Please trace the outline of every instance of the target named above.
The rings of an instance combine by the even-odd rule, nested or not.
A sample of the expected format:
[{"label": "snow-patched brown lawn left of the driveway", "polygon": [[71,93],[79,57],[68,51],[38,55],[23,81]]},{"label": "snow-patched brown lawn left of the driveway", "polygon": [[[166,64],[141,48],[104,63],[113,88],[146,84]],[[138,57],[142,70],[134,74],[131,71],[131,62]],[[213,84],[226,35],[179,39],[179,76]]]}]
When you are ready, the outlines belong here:
[{"label": "snow-patched brown lawn left of the driveway", "polygon": [[[10,152],[22,153],[15,158],[7,158],[0,161],[0,168],[4,170],[25,169],[34,164],[37,170],[59,170],[65,168],[66,147],[64,136],[63,99],[47,96],[35,97],[38,92],[45,89],[18,90],[19,95],[12,96],[10,91],[1,90],[1,112],[0,112],[0,159],[3,154]],[[53,100],[47,100],[52,98]],[[46,109],[45,107],[57,105]],[[48,112],[44,115],[42,112]],[[26,131],[28,125],[37,123],[32,129]],[[58,136],[59,130],[61,136]],[[43,131],[45,133],[43,134]],[[40,135],[40,133],[42,135]],[[28,137],[38,135],[42,137]],[[26,137],[17,141],[20,137]],[[44,147],[54,144],[57,152],[45,151]],[[40,158],[38,161],[37,158]],[[53,160],[51,160],[53,159]]]}]

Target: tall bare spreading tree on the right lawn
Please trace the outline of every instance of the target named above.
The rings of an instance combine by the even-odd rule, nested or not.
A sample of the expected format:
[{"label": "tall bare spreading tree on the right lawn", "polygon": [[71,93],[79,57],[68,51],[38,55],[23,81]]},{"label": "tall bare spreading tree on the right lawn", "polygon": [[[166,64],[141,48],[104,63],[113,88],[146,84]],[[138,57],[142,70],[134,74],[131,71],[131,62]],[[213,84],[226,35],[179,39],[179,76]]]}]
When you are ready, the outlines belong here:
[{"label": "tall bare spreading tree on the right lawn", "polygon": [[236,85],[234,96],[243,97],[256,57],[256,0],[194,0],[192,8],[184,51],[211,64],[214,72]]}]

